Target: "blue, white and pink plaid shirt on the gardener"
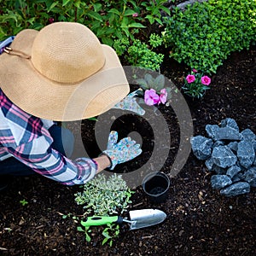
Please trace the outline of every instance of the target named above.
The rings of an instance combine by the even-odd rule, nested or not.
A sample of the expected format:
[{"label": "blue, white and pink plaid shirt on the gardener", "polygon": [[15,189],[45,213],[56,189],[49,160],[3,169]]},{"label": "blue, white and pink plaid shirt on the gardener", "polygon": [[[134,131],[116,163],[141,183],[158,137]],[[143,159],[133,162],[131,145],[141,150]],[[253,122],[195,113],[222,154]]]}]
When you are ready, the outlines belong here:
[{"label": "blue, white and pink plaid shirt on the gardener", "polygon": [[52,148],[50,123],[15,106],[0,89],[0,161],[13,156],[57,182],[86,183],[96,175],[96,162],[88,158],[69,160]]}]

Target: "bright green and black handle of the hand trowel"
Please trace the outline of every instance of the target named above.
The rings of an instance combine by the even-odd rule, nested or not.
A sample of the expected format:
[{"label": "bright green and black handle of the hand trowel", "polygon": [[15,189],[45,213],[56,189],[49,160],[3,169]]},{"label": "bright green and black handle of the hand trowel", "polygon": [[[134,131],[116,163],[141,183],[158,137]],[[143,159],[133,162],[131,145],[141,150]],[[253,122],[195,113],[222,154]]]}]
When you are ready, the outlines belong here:
[{"label": "bright green and black handle of the hand trowel", "polygon": [[88,217],[85,218],[84,220],[81,221],[81,224],[84,227],[90,227],[90,226],[100,226],[104,224],[109,224],[109,223],[116,223],[116,224],[121,224],[123,222],[123,218],[119,216],[93,216],[93,217]]}]

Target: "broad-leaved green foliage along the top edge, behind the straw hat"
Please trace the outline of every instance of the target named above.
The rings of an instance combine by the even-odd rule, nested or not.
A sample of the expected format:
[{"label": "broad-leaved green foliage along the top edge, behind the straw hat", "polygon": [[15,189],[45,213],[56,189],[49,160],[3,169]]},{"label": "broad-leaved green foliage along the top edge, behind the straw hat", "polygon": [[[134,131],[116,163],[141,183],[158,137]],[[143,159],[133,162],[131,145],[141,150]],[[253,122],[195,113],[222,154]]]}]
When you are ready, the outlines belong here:
[{"label": "broad-leaved green foliage along the top edge, behind the straw hat", "polygon": [[112,45],[114,39],[134,39],[143,23],[160,22],[160,11],[170,14],[165,0],[10,0],[4,1],[0,11],[0,40],[16,35],[22,29],[40,29],[55,21],[75,21],[96,33],[103,44]]}]

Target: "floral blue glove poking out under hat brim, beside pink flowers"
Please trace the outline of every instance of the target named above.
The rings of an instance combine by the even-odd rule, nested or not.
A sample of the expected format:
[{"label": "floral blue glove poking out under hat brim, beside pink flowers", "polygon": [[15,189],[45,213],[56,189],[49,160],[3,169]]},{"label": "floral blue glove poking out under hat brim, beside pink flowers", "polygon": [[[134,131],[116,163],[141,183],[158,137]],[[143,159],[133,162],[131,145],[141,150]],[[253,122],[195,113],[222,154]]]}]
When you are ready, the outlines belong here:
[{"label": "floral blue glove poking out under hat brim, beside pink flowers", "polygon": [[142,89],[135,90],[128,94],[123,100],[118,102],[113,106],[113,108],[123,109],[123,110],[130,110],[135,112],[139,115],[143,115],[145,110],[137,103],[135,96],[137,96],[137,92]]}]

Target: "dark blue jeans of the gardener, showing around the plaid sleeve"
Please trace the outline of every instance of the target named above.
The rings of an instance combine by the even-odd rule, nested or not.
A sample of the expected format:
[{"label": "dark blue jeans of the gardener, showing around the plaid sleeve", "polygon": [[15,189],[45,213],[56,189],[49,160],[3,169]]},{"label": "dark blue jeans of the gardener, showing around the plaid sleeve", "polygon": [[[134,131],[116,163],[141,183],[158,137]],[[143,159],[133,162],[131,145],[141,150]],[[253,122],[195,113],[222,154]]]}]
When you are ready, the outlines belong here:
[{"label": "dark blue jeans of the gardener, showing around the plaid sleeve", "polygon": [[[51,145],[52,148],[70,157],[73,153],[73,133],[57,125],[52,125],[49,128],[49,133],[54,140]],[[35,173],[30,167],[16,160],[15,157],[0,161],[0,178],[1,175],[27,176]]]}]

